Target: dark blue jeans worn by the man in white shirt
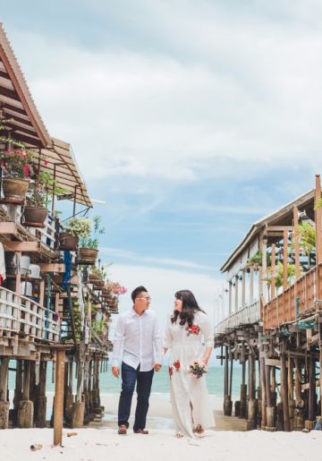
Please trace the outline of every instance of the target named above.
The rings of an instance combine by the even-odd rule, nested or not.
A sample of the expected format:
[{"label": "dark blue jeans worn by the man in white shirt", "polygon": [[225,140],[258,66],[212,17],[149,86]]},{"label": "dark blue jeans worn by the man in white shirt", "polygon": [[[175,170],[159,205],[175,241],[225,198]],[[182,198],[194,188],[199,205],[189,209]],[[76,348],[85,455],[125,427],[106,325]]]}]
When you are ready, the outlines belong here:
[{"label": "dark blue jeans worn by the man in white shirt", "polygon": [[129,427],[131,413],[131,399],[135,383],[137,385],[138,402],[135,411],[133,431],[144,429],[148,414],[148,397],[151,392],[154,370],[140,371],[140,365],[135,370],[127,363],[122,363],[122,392],[118,408],[118,425],[125,424]]}]

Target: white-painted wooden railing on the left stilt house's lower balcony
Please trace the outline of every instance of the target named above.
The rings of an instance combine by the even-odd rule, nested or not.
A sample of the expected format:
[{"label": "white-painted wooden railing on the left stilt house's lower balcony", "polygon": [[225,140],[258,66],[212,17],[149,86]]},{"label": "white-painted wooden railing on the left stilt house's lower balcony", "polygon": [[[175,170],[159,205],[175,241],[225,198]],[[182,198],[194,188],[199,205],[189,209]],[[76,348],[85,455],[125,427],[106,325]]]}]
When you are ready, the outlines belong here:
[{"label": "white-painted wooden railing on the left stilt house's lower balcony", "polygon": [[49,342],[58,342],[60,323],[55,312],[22,295],[0,287],[0,336],[22,335]]}]

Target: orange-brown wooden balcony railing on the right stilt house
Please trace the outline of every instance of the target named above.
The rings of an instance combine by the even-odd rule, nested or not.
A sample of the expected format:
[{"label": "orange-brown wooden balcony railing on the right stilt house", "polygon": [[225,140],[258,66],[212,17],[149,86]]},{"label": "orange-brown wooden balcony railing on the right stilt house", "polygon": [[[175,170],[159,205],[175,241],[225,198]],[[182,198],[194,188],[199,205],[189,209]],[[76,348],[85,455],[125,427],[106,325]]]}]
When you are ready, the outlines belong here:
[{"label": "orange-brown wooden balcony railing on the right stilt house", "polygon": [[[319,281],[319,284],[317,283]],[[300,315],[322,308],[322,264],[310,269],[292,286],[264,305],[261,318],[264,329],[274,329],[285,322],[296,320]]]}]

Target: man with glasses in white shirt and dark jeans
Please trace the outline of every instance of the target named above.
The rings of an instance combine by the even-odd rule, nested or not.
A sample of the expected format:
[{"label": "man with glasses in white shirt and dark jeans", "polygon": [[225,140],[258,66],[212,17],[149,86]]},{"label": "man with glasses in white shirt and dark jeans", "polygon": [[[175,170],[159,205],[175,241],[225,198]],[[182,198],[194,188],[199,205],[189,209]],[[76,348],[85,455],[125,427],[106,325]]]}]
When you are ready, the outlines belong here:
[{"label": "man with glasses in white shirt and dark jeans", "polygon": [[148,397],[151,392],[154,371],[162,363],[162,339],[157,326],[155,312],[148,311],[151,301],[144,286],[138,286],[131,293],[133,307],[120,315],[114,335],[112,373],[120,376],[119,360],[123,346],[122,392],[118,408],[118,433],[126,434],[129,428],[131,399],[137,384],[138,402],[135,411],[133,431],[148,434],[146,421]]}]

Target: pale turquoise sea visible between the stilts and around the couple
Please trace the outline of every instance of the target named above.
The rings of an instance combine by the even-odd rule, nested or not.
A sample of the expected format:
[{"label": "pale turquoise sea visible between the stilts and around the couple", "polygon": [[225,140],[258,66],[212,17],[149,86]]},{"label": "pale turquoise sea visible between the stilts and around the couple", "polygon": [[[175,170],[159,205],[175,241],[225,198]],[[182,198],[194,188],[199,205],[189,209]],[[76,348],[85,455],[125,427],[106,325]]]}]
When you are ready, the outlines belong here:
[{"label": "pale turquoise sea visible between the stilts and around the couple", "polygon": [[[10,361],[10,368],[15,369],[15,361]],[[48,363],[47,366],[47,390],[54,391],[55,384],[52,382],[53,379],[52,365]],[[206,380],[208,385],[208,391],[215,397],[224,398],[224,366],[215,365],[208,368],[206,374]],[[242,367],[238,364],[234,365],[233,369],[233,386],[232,394],[234,398],[238,398],[240,394],[242,380]],[[103,394],[119,394],[121,392],[121,379],[116,379],[112,375],[111,366],[108,365],[107,371],[100,373],[100,392]],[[13,390],[15,384],[15,372],[9,372],[9,389]],[[76,388],[76,380],[74,380],[74,388]],[[155,372],[152,393],[154,394],[168,394],[169,391],[169,374],[168,367],[164,365],[162,369]]]}]

